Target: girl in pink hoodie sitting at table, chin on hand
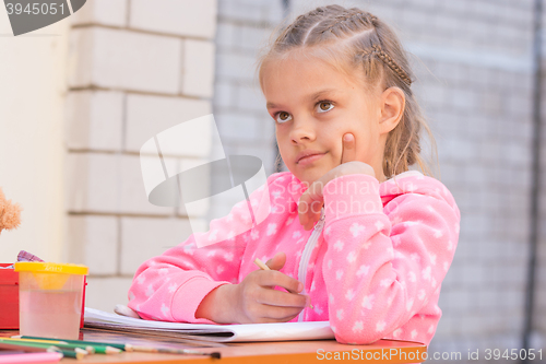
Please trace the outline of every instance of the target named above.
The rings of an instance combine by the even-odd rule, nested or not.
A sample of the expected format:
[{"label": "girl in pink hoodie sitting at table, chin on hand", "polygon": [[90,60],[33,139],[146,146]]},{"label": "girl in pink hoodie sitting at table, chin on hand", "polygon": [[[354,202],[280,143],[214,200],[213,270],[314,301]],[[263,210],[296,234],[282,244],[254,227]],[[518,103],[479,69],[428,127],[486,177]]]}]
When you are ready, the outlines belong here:
[{"label": "girl in pink hoodie sitting at table, chin on hand", "polygon": [[[343,343],[428,344],[460,212],[440,181],[408,171],[426,171],[428,128],[399,39],[359,9],[318,8],[282,31],[259,71],[289,169],[250,197],[269,197],[271,213],[233,236],[244,201],[206,233],[229,238],[198,249],[190,236],[146,261],[130,307],[169,321],[330,320]],[[271,271],[253,263],[271,257]]]}]

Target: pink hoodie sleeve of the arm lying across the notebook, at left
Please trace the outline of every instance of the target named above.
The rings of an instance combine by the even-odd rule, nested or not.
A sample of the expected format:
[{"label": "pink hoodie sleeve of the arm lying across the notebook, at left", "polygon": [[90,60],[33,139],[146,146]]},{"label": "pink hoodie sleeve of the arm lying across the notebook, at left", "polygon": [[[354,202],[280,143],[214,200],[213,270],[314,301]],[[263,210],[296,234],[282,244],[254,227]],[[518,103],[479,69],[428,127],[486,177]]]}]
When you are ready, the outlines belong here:
[{"label": "pink hoodie sleeve of the arm lying across the notebook, at left", "polygon": [[[248,201],[244,200],[228,215],[211,221],[209,232],[192,234],[186,242],[139,267],[129,290],[129,307],[145,319],[214,324],[195,318],[195,312],[212,290],[238,283],[249,232],[237,235],[234,230],[244,231],[240,227],[251,225],[252,219],[269,214],[270,189],[264,187],[274,179],[275,175],[270,176],[268,184],[250,196],[252,215]],[[211,240],[217,243],[206,246],[201,243]]]}]

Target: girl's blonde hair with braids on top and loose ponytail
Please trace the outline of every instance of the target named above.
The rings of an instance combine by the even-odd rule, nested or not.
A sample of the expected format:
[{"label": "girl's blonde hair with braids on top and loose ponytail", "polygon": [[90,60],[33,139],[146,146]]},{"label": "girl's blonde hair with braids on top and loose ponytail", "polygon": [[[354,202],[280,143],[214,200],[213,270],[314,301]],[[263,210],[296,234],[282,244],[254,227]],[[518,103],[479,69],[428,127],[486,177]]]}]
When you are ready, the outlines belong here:
[{"label": "girl's blonde hair with braids on top and loose ponytail", "polygon": [[400,87],[405,95],[405,107],[400,122],[387,138],[383,173],[389,178],[417,163],[424,174],[431,175],[420,155],[420,130],[427,131],[435,151],[436,142],[410,87],[414,75],[405,51],[389,25],[369,12],[341,5],[320,7],[299,15],[280,31],[260,57],[260,84],[270,61],[285,59],[295,51],[325,60],[352,77],[352,70],[361,68],[367,86],[382,82],[384,90]]}]

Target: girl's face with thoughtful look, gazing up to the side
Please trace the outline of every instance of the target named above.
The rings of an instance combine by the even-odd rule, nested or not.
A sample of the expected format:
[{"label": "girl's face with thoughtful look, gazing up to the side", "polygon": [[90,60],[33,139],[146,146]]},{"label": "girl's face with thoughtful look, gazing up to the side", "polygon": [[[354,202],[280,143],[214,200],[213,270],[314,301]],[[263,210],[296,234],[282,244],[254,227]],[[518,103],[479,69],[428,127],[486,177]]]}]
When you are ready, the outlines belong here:
[{"label": "girl's face with thoughtful look, gazing up to the side", "polygon": [[281,156],[299,180],[311,184],[341,164],[345,133],[355,138],[357,161],[384,180],[379,98],[358,83],[359,75],[354,79],[320,60],[290,58],[264,69],[262,90]]}]

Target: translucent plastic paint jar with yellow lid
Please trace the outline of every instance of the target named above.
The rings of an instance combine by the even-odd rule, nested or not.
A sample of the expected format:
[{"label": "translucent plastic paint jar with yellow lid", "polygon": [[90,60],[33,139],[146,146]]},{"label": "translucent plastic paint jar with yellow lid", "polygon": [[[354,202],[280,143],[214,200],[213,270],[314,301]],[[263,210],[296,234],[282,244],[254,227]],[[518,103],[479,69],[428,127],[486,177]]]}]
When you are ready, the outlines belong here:
[{"label": "translucent plastic paint jar with yellow lid", "polygon": [[76,340],[88,269],[79,265],[16,262],[22,336]]}]

